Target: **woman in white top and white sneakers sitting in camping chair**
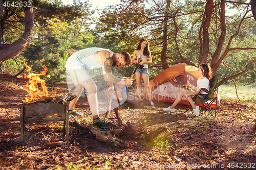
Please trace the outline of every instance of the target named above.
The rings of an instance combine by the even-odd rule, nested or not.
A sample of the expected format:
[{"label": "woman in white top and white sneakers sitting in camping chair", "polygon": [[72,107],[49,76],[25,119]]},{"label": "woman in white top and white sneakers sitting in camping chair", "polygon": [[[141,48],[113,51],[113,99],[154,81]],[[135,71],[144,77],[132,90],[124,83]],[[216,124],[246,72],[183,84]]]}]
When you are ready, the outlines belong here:
[{"label": "woman in white top and white sneakers sitting in camping chair", "polygon": [[[200,98],[202,99],[207,99],[207,93],[203,90],[201,90],[201,88],[206,88],[207,90],[209,90],[210,88],[210,79],[212,78],[212,71],[211,68],[208,64],[200,64],[199,69],[198,69],[198,73],[201,76],[198,80],[197,80],[197,87],[191,85],[190,83],[187,83],[186,85],[188,85],[189,87],[197,90],[197,91],[189,91],[189,90],[183,90],[179,93],[178,98],[176,98],[176,100],[174,101],[172,106],[169,106],[165,109],[163,109],[166,112],[174,112],[175,109],[174,107],[176,105],[178,105],[178,103],[180,103],[180,101],[182,100],[182,97],[184,96],[187,101],[190,103],[190,105],[193,108],[193,112],[196,114],[196,116],[199,116],[199,106],[196,106],[192,100],[192,98],[195,95],[199,95]],[[199,94],[200,92],[200,94]]]}]

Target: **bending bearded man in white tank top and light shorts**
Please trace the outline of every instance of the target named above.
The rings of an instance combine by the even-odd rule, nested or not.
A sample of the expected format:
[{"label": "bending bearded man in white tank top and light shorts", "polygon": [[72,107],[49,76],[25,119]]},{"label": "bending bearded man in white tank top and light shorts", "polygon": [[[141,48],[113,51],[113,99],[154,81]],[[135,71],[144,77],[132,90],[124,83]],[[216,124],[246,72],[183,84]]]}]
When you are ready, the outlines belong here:
[{"label": "bending bearded man in white tank top and light shorts", "polygon": [[74,108],[81,92],[85,88],[88,93],[87,98],[93,115],[93,126],[97,128],[111,127],[113,125],[112,123],[106,122],[106,120],[100,118],[98,115],[97,86],[92,80],[88,70],[102,67],[105,81],[129,86],[133,83],[133,80],[123,80],[113,76],[112,67],[117,66],[119,68],[124,65],[130,66],[131,63],[129,53],[113,53],[105,48],[86,48],[72,54],[67,60],[66,69],[76,87],[72,94],[76,94],[77,98],[70,102],[69,114],[73,114],[74,116],[82,115]]}]

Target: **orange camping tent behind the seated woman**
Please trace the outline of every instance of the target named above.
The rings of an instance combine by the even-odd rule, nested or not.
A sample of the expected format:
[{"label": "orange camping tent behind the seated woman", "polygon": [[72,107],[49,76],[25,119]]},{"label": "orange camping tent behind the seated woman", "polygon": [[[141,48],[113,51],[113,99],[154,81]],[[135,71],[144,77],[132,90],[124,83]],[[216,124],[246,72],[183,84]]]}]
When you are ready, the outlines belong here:
[{"label": "orange camping tent behind the seated woman", "polygon": [[[189,81],[191,85],[197,87],[197,79],[199,79],[200,77],[201,76],[198,74],[197,67],[186,64],[175,64],[160,72],[150,82],[152,100],[174,103],[180,91],[184,90],[184,87],[182,85],[185,85],[187,81]],[[220,108],[219,101],[220,98],[217,100],[218,109]],[[188,105],[188,101],[183,98],[179,104]],[[215,108],[215,106],[216,103],[213,103],[211,105],[211,108]]]}]

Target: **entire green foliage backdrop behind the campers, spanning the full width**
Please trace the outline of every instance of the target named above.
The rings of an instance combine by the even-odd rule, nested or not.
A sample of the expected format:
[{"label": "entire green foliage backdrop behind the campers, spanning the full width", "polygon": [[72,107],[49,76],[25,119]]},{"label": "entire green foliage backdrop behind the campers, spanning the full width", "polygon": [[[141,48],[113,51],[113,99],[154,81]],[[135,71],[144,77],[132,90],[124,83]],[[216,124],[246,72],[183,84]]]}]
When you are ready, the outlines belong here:
[{"label": "entire green foliage backdrop behind the campers, spanning the full width", "polygon": [[[12,2],[13,0],[11,0]],[[218,1],[214,1],[218,4]],[[90,30],[89,26],[94,11],[90,11],[89,1],[74,1],[72,5],[63,5],[55,0],[33,1],[35,19],[35,39],[22,54],[6,61],[2,69],[12,75],[23,69],[24,65],[17,61],[19,57],[27,59],[34,71],[41,70],[39,60],[44,58],[44,63],[50,71],[45,77],[47,82],[65,80],[65,63],[74,52],[87,47],[109,48],[114,53],[127,51],[134,53],[141,37],[149,39],[153,62],[149,66],[162,62],[165,57],[163,51],[163,38],[167,38],[167,62],[181,62],[180,54],[185,61],[198,65],[200,52],[199,31],[202,24],[202,11],[205,10],[205,1],[187,0],[172,1],[167,8],[165,1],[122,1],[121,4],[110,6],[102,10],[96,20],[96,29]],[[226,3],[227,9],[236,9],[236,14],[226,17],[226,38],[220,57],[224,54],[229,37],[238,31],[239,22],[244,15],[245,4]],[[15,17],[9,20],[12,24],[5,25],[6,43],[12,43],[23,34],[24,12],[22,8],[7,8],[4,12],[14,12]],[[60,15],[61,14],[61,15]],[[214,9],[209,28],[209,57],[210,64],[217,48],[220,29],[220,8]],[[175,20],[174,20],[175,18]],[[94,21],[95,23],[95,21]],[[167,23],[167,35],[163,35]],[[176,28],[177,27],[177,28]],[[247,14],[242,22],[240,33],[229,48],[256,47],[255,28],[256,22]],[[177,36],[176,36],[177,33]],[[177,41],[175,41],[175,38]],[[176,44],[177,43],[177,44]],[[178,53],[178,48],[180,54]],[[255,50],[231,50],[218,67],[217,73],[220,80],[242,72],[249,61],[255,56]],[[220,58],[219,57],[219,58]],[[182,61],[183,62],[183,61]],[[248,72],[233,79],[241,85],[255,83],[255,65],[249,66]],[[120,72],[124,77],[130,77],[134,66],[113,68],[113,72]],[[149,69],[150,80],[162,71],[162,65]],[[101,79],[102,80],[102,79]],[[231,82],[227,82],[228,84]]]}]

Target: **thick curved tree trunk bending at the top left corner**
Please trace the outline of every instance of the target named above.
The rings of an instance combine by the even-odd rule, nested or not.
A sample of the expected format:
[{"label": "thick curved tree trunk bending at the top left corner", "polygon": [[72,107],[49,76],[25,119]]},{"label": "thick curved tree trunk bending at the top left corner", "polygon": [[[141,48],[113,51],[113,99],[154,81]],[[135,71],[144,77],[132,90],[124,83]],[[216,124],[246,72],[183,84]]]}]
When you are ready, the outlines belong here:
[{"label": "thick curved tree trunk bending at the top left corner", "polygon": [[[23,0],[23,3],[26,2],[28,4],[30,0]],[[32,3],[31,3],[32,4]],[[0,61],[6,61],[15,55],[19,54],[26,48],[26,46],[31,42],[34,35],[34,13],[33,8],[31,7],[23,7],[25,12],[25,32],[24,34],[11,45],[4,47],[0,51]]]}]

